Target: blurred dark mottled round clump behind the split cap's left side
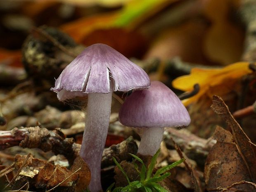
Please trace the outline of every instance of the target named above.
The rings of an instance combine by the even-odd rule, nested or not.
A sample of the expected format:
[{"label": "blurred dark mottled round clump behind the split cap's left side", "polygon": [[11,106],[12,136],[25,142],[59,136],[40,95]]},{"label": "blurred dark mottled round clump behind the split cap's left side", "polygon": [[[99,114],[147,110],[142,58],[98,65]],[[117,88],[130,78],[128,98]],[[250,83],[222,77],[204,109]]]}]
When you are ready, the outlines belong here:
[{"label": "blurred dark mottled round clump behind the split cap's left side", "polygon": [[84,49],[67,34],[57,28],[34,28],[22,47],[22,63],[33,82],[49,90],[76,55]]}]

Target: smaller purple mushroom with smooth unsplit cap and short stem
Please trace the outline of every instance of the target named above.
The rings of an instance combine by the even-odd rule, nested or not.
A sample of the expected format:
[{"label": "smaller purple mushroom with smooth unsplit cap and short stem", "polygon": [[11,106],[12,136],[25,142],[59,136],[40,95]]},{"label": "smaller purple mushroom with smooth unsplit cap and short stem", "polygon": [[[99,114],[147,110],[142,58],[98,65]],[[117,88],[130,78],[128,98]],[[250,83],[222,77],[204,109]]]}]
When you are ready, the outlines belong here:
[{"label": "smaller purple mushroom with smooth unsplit cap and short stem", "polygon": [[188,126],[190,116],[172,90],[164,83],[152,81],[149,89],[136,90],[125,100],[119,121],[139,130],[138,154],[153,156],[160,147],[164,127]]}]

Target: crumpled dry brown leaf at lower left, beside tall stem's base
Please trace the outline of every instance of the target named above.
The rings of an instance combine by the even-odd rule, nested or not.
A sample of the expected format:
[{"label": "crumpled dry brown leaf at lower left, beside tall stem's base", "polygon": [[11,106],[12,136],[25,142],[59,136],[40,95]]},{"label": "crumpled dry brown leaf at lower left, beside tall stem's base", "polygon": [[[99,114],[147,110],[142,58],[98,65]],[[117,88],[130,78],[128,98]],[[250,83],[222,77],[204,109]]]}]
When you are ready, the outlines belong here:
[{"label": "crumpled dry brown leaf at lower left, beside tall stem's base", "polygon": [[[25,157],[26,156],[21,155],[15,156],[16,169],[22,166]],[[73,174],[79,168],[81,168],[81,170]],[[83,182],[81,182],[81,179]],[[73,164],[72,169],[69,170],[66,167],[53,165],[47,161],[30,156],[25,166],[21,169],[18,178],[15,180],[14,186],[16,188],[22,187],[24,182],[27,181],[29,181],[30,187],[34,187],[38,190],[50,190],[58,185],[62,187],[64,191],[72,191],[75,190],[76,187],[80,187],[81,189],[81,187],[85,188],[88,185],[90,182],[90,171],[85,162],[81,162],[79,159],[76,160],[76,164]]]}]

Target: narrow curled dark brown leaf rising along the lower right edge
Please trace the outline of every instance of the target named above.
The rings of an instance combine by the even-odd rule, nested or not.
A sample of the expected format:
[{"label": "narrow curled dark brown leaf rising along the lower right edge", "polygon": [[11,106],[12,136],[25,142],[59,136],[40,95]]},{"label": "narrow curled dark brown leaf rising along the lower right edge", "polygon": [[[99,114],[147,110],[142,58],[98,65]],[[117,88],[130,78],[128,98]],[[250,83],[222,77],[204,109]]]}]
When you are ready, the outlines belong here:
[{"label": "narrow curled dark brown leaf rising along the lower right edge", "polygon": [[213,111],[220,115],[221,118],[228,124],[234,142],[237,145],[239,154],[247,166],[251,181],[256,182],[256,145],[254,145],[249,137],[244,133],[244,130],[239,126],[237,121],[231,115],[228,106],[221,97],[213,95],[213,104],[211,106]]}]

